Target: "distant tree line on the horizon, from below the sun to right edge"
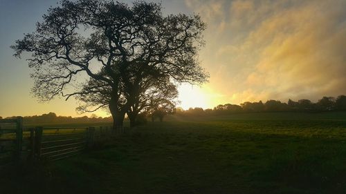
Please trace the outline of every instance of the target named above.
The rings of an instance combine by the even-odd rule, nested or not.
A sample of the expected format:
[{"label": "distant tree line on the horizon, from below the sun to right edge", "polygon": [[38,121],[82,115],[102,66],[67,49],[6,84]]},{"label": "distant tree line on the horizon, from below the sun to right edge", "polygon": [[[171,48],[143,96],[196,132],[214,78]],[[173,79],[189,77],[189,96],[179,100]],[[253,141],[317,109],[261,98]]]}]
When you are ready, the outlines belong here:
[{"label": "distant tree line on the horizon, from below the sun to right edge", "polygon": [[176,109],[178,115],[228,115],[235,113],[264,113],[264,112],[321,112],[333,110],[346,110],[346,96],[338,97],[322,97],[316,103],[309,99],[300,99],[298,101],[281,102],[279,100],[270,99],[263,103],[262,101],[250,102],[246,101],[240,105],[237,104],[220,104],[214,108],[189,108],[183,110]]}]

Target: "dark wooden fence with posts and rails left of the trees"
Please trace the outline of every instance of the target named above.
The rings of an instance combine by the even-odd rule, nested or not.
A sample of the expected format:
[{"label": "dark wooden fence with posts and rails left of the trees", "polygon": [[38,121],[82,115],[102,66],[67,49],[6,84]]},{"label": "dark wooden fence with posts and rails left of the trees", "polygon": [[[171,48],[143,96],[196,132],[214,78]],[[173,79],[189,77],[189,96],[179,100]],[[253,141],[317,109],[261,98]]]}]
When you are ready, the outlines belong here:
[{"label": "dark wooden fence with posts and rails left of the trees", "polygon": [[[128,128],[111,126],[42,127],[23,129],[23,119],[0,119],[0,165],[18,159],[57,160],[122,135]],[[6,148],[4,148],[6,145]],[[8,154],[6,154],[8,153]],[[1,163],[1,157],[3,159]]]}]

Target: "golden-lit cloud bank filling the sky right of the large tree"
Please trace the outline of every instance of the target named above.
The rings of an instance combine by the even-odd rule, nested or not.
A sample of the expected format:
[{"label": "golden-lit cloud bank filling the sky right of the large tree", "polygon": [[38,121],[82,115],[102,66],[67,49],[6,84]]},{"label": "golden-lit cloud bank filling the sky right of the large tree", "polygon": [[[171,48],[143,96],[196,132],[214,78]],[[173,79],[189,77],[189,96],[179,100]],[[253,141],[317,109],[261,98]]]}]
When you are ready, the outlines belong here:
[{"label": "golden-lit cloud bank filling the sky right of the large tree", "polygon": [[200,58],[208,86],[228,96],[219,103],[346,94],[346,1],[187,5],[208,23]]}]

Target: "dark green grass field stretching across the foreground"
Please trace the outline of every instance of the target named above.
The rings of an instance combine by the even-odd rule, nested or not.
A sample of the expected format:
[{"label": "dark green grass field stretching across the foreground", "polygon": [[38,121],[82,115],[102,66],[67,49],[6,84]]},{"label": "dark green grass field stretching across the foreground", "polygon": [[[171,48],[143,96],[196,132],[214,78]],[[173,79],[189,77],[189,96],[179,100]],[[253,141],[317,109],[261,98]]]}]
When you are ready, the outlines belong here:
[{"label": "dark green grass field stretching across the foreground", "polygon": [[346,193],[346,113],[170,117],[3,169],[1,193]]}]

